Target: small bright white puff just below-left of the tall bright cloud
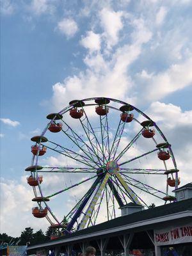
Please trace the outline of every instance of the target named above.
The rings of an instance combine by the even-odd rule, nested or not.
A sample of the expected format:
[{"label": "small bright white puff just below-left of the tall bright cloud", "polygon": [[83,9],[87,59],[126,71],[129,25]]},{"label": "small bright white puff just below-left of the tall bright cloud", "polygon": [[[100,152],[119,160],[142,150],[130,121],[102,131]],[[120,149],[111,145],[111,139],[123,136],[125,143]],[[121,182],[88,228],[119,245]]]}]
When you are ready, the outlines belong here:
[{"label": "small bright white puff just below-left of the tall bright cloud", "polygon": [[100,50],[100,35],[95,34],[93,31],[88,31],[86,36],[81,39],[81,45],[86,49],[92,51]]}]

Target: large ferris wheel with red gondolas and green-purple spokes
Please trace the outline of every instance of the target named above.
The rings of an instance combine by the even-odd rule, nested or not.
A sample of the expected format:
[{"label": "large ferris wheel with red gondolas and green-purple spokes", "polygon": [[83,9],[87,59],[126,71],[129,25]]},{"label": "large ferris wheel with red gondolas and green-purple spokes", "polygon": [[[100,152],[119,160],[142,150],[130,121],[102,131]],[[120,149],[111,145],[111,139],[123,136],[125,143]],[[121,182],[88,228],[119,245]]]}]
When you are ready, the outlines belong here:
[{"label": "large ferris wheel with red gondolas and green-purple spokes", "polygon": [[97,97],[72,100],[47,119],[42,134],[31,138],[26,168],[36,218],[70,233],[115,218],[130,202],[176,200],[169,191],[180,183],[171,145],[140,109]]}]

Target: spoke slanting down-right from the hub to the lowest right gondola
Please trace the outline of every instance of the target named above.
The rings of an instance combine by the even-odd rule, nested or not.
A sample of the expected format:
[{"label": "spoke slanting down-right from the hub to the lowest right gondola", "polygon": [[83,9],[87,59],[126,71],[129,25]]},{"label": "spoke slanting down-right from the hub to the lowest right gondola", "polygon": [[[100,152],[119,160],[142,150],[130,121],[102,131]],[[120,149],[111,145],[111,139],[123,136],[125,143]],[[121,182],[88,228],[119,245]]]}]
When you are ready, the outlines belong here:
[{"label": "spoke slanting down-right from the hub to the lowest right gondola", "polygon": [[158,198],[161,198],[161,197],[156,195],[157,193],[161,193],[163,195],[166,195],[166,193],[164,193],[163,191],[158,190],[156,188],[153,188],[152,186],[149,186],[149,185],[147,185],[143,182],[140,182],[140,180],[133,179],[132,177],[129,177],[128,175],[125,175],[125,174],[124,174],[124,177],[125,177],[126,181],[131,186],[135,186],[136,188],[141,189],[141,190],[145,191],[146,193],[148,193],[150,195],[156,196]]}]

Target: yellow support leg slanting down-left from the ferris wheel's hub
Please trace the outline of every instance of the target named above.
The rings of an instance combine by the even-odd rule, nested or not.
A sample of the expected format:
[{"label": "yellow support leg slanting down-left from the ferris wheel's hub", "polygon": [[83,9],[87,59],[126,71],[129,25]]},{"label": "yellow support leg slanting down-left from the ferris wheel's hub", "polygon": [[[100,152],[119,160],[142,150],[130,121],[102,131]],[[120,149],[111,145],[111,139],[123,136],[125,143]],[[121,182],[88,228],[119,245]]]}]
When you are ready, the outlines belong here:
[{"label": "yellow support leg slanting down-left from the ferris wheel's hub", "polygon": [[90,216],[92,215],[93,209],[95,207],[95,204],[97,204],[97,201],[99,199],[99,196],[102,193],[102,190],[106,187],[106,184],[108,182],[110,174],[106,173],[104,179],[102,180],[102,182],[100,183],[100,186],[97,188],[97,191],[95,193],[95,196],[93,196],[92,201],[90,202],[90,205],[88,206],[88,209],[86,210],[83,219],[81,220],[81,223],[79,225],[79,230],[83,229],[88,221],[88,219],[90,218]]}]

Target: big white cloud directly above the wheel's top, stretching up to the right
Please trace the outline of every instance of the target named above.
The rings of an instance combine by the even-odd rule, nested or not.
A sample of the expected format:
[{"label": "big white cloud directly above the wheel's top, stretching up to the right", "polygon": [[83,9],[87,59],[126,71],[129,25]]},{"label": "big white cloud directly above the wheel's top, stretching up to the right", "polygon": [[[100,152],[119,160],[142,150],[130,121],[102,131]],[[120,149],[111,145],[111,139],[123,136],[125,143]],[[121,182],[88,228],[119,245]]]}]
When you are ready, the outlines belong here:
[{"label": "big white cloud directly above the wheel's top, stretching up to the right", "polygon": [[68,104],[67,99],[71,99],[71,95],[74,99],[79,99],[79,95],[83,94],[84,98],[111,97],[134,102],[134,95],[130,91],[133,83],[127,70],[140,56],[142,46],[150,40],[151,33],[145,27],[143,20],[135,20],[133,24],[136,31],[132,34],[132,38],[136,38],[136,44],[133,42],[118,47],[108,58],[100,52],[87,54],[84,58],[87,69],[84,72],[67,77],[63,83],[52,86],[52,104],[57,111]]}]

